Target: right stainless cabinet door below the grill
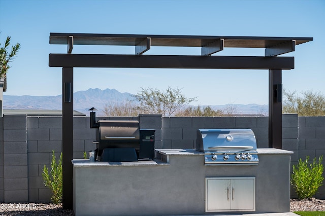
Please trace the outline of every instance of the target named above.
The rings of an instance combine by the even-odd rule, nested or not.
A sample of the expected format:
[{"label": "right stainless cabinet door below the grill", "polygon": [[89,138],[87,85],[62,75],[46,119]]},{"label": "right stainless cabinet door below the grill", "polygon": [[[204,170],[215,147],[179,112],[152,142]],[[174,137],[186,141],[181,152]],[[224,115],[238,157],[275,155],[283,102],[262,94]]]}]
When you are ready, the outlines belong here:
[{"label": "right stainless cabinet door below the grill", "polygon": [[231,180],[231,209],[255,210],[255,187],[253,178]]}]

